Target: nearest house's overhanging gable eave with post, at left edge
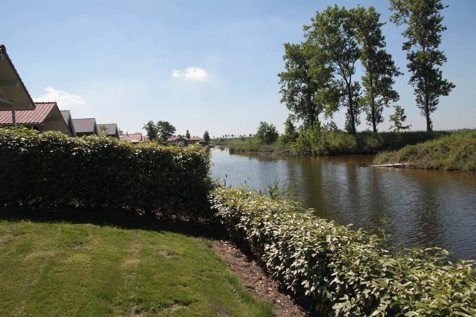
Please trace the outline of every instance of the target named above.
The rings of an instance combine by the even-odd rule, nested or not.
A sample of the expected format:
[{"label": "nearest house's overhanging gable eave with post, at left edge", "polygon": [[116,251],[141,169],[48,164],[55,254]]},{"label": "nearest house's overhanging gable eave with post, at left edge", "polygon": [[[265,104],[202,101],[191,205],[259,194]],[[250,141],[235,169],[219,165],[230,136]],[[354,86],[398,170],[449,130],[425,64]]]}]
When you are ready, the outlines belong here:
[{"label": "nearest house's overhanging gable eave with post, at left edge", "polygon": [[[35,110],[35,108],[36,104],[13,66],[5,45],[0,45],[0,115],[2,122],[8,121],[6,125],[16,127],[16,111]],[[10,117],[10,120],[7,117]],[[35,119],[38,121],[38,118]]]}]

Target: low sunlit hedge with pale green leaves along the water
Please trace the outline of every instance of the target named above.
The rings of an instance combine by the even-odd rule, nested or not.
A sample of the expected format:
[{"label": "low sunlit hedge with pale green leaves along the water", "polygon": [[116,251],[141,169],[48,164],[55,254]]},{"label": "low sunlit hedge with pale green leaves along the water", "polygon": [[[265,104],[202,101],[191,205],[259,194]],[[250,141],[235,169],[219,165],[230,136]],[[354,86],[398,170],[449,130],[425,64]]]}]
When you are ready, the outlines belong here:
[{"label": "low sunlit hedge with pale green leaves along the water", "polygon": [[247,188],[217,188],[210,201],[230,237],[323,316],[476,316],[472,261],[436,248],[392,255],[377,236]]}]

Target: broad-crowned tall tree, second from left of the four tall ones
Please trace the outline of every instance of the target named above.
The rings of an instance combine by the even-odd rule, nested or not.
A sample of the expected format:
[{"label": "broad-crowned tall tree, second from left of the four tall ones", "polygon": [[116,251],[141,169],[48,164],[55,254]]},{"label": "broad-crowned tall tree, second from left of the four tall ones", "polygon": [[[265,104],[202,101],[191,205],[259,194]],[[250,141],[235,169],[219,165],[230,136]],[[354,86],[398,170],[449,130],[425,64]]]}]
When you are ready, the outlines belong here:
[{"label": "broad-crowned tall tree, second from left of the four tall ones", "polygon": [[[320,87],[326,116],[341,108],[347,108],[347,132],[356,133],[360,124],[361,109],[360,84],[352,81],[356,63],[360,58],[354,17],[345,7],[327,7],[322,13],[317,12],[311,19],[312,25],[305,26],[307,48],[312,51],[311,69],[313,78],[326,82],[327,73],[332,75],[330,86]],[[327,91],[323,91],[323,89]],[[313,120],[316,117],[313,118]]]}]

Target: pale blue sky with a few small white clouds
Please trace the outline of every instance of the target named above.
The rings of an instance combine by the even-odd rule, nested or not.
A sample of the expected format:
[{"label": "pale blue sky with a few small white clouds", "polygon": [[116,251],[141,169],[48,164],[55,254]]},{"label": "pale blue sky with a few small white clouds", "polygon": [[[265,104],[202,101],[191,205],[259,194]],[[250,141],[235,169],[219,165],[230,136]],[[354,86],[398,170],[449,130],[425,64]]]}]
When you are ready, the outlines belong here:
[{"label": "pale blue sky with a few small white clouds", "polygon": [[[117,123],[129,133],[149,120],[200,137],[205,130],[212,137],[256,133],[260,121],[283,132],[283,43],[302,41],[303,25],[334,3],[382,14],[387,52],[405,74],[394,85],[397,104],[412,130],[426,129],[408,85],[404,29],[388,22],[386,0],[5,1],[0,43],[33,99],[57,101],[76,119]],[[443,3],[450,6],[441,69],[456,88],[431,118],[434,129],[476,128],[476,1]],[[389,128],[392,110],[384,110],[380,131]],[[341,129],[344,118],[343,110],[334,116]],[[367,129],[365,115],[361,120],[358,130]]]}]

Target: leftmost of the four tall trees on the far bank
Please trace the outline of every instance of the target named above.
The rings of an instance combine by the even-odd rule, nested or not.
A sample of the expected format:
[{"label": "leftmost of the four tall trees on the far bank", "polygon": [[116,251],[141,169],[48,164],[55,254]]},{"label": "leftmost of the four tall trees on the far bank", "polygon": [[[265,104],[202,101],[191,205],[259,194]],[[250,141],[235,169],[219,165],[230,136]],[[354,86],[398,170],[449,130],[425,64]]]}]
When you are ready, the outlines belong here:
[{"label": "leftmost of the four tall trees on the far bank", "polygon": [[[322,103],[317,98],[320,85],[309,73],[312,52],[304,48],[305,44],[284,44],[286,71],[279,73],[282,94],[281,103],[285,103],[289,111],[294,112],[297,119],[302,119],[305,127],[309,127],[322,112]],[[308,52],[308,53],[307,53]]]}]

